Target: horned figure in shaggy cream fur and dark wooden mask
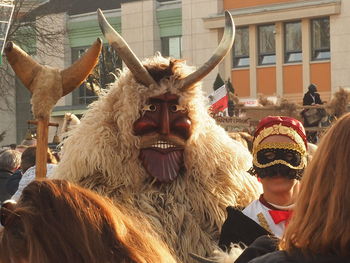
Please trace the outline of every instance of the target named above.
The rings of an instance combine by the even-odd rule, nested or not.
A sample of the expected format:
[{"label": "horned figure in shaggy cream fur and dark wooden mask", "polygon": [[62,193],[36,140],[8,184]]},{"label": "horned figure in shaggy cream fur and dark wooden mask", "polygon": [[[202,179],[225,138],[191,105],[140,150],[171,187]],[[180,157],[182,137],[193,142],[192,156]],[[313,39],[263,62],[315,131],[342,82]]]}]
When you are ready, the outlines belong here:
[{"label": "horned figure in shaggy cream fur and dark wooden mask", "polygon": [[232,18],[213,57],[197,71],[160,54],[142,63],[106,22],[104,35],[128,69],[65,140],[55,177],[93,189],[146,217],[175,251],[209,255],[229,204],[245,206],[258,183],[249,152],[208,114],[199,81],[232,46]]}]

